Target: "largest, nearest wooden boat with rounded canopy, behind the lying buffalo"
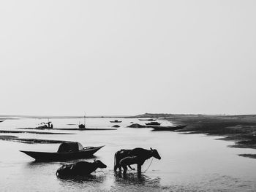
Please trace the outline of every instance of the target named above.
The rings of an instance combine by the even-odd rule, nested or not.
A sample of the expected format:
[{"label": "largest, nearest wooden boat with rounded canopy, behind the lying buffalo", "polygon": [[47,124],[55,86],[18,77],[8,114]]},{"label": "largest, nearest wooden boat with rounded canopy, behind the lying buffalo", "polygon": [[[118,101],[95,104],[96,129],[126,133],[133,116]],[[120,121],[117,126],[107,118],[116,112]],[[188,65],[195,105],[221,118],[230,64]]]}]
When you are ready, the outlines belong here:
[{"label": "largest, nearest wooden boat with rounded canopy, behind the lying buffalo", "polygon": [[64,142],[61,143],[59,150],[55,153],[25,150],[20,150],[20,152],[31,156],[31,158],[34,158],[36,161],[63,161],[67,159],[90,157],[102,147],[104,147],[104,145],[99,147],[83,147],[79,142]]}]

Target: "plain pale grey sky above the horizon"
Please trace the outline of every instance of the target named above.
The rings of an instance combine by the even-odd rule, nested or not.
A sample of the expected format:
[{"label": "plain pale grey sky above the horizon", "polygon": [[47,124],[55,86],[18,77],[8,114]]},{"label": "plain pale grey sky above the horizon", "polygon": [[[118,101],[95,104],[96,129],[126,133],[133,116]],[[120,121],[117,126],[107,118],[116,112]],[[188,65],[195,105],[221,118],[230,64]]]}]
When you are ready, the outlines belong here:
[{"label": "plain pale grey sky above the horizon", "polygon": [[256,1],[0,2],[0,115],[255,114]]}]

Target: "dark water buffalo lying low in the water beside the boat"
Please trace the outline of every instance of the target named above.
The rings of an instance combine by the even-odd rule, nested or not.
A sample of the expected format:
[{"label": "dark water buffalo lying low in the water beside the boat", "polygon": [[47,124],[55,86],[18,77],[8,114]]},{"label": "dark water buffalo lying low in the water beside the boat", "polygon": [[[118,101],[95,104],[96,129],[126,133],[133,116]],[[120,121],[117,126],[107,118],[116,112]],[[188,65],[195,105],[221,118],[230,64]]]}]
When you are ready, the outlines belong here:
[{"label": "dark water buffalo lying low in the water beside the boat", "polygon": [[58,177],[63,176],[75,176],[75,175],[86,175],[91,174],[91,172],[94,172],[98,168],[106,168],[107,166],[102,163],[102,161],[95,161],[93,163],[89,163],[86,161],[80,161],[76,164],[68,164],[61,166],[57,172],[56,175]]}]

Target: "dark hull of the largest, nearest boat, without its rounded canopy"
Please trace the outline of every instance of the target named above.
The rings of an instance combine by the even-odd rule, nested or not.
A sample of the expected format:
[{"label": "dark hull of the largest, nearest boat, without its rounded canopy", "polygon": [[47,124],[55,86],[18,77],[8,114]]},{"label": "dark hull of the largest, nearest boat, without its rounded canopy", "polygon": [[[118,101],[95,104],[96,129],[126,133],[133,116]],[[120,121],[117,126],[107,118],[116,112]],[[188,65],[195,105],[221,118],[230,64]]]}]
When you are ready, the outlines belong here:
[{"label": "dark hull of the largest, nearest boat, without its rounded canopy", "polygon": [[37,152],[37,151],[25,151],[25,150],[20,150],[20,152],[31,156],[31,158],[34,158],[35,161],[63,161],[67,159],[90,157],[94,155],[94,153],[96,153],[102,147],[104,146],[89,147],[84,150],[80,150],[78,152],[71,152],[71,153],[49,153],[49,152]]}]

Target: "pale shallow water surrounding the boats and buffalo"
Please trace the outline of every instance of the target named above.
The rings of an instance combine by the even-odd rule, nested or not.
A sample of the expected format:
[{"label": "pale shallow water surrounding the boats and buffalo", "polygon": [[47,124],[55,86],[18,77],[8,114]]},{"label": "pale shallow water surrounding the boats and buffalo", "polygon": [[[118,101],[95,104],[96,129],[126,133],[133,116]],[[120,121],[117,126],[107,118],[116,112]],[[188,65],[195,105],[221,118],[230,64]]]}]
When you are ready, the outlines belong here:
[{"label": "pale shallow water surrounding the boats and buffalo", "polygon": [[[112,119],[86,119],[86,125],[109,128]],[[203,134],[178,134],[169,131],[151,131],[151,128],[127,128],[130,122],[146,123],[136,119],[121,119],[116,131],[59,131],[70,135],[9,134],[21,138],[61,139],[81,142],[84,146],[105,145],[94,158],[108,165],[97,169],[90,177],[59,179],[56,170],[63,162],[35,163],[33,158],[19,150],[54,152],[56,144],[24,144],[0,141],[0,191],[255,191],[256,160],[238,156],[256,153],[252,149],[230,148],[232,142],[216,140]],[[47,120],[45,120],[47,121]],[[52,119],[54,128],[77,128],[83,119]],[[34,127],[42,119],[21,118],[0,123],[0,129],[18,130]],[[161,120],[159,120],[161,122]],[[162,123],[168,124],[162,120]],[[46,131],[46,130],[43,130]],[[153,147],[161,160],[151,159],[143,165],[138,177],[129,171],[127,179],[113,172],[113,155],[122,148]],[[93,161],[94,158],[86,161]],[[67,161],[72,163],[76,161]],[[135,166],[134,166],[135,167]]]}]

